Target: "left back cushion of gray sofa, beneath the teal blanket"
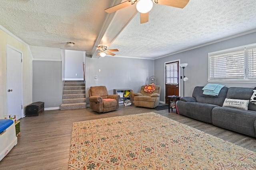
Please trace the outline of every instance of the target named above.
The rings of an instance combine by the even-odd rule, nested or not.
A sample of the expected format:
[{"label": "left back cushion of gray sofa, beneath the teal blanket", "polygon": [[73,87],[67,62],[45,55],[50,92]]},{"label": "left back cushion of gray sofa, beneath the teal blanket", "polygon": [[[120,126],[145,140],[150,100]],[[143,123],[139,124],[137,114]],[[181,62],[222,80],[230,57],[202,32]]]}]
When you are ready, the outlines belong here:
[{"label": "left back cushion of gray sofa, beneath the teal blanket", "polygon": [[228,88],[224,87],[220,90],[220,93],[218,96],[208,96],[203,94],[203,90],[201,86],[196,86],[194,88],[192,96],[196,98],[197,102],[200,103],[207,103],[207,104],[213,104],[217,106],[222,106],[223,102],[226,98],[226,94],[228,92]]}]

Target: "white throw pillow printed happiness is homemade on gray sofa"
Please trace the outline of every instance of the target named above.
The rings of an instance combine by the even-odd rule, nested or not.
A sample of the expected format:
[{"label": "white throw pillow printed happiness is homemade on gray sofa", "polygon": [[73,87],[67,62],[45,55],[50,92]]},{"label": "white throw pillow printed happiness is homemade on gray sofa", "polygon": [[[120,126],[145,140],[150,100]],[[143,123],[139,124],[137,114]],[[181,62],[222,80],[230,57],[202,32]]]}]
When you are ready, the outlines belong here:
[{"label": "white throw pillow printed happiness is homemade on gray sofa", "polygon": [[234,107],[238,109],[248,110],[248,104],[250,100],[240,100],[240,99],[228,99],[226,98],[223,107]]}]

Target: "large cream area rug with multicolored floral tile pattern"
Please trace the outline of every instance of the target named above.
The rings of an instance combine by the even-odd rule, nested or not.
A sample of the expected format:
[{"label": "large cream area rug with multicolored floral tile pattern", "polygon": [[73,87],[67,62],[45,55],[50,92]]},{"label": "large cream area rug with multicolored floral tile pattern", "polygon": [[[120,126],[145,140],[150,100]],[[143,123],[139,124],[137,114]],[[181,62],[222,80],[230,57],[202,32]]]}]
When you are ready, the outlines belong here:
[{"label": "large cream area rug with multicolored floral tile pattern", "polygon": [[256,169],[256,152],[154,112],[73,123],[70,170]]}]

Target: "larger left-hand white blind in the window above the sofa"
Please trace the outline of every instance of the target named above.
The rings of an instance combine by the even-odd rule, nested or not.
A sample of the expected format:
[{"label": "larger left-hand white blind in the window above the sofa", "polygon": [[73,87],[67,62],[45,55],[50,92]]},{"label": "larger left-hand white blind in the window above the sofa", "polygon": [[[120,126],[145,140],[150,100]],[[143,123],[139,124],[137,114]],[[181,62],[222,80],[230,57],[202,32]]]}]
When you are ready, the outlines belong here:
[{"label": "larger left-hand white blind in the window above the sofa", "polygon": [[209,56],[210,79],[244,78],[244,50]]}]

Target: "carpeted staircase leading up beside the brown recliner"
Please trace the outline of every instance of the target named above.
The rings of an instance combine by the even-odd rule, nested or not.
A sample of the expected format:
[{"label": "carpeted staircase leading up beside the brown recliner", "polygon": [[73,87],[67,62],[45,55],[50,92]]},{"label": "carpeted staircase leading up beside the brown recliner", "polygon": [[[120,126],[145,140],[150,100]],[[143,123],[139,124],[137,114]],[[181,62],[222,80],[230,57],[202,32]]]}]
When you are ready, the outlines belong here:
[{"label": "carpeted staircase leading up beside the brown recliner", "polygon": [[85,109],[85,84],[83,80],[65,81],[60,110]]}]

